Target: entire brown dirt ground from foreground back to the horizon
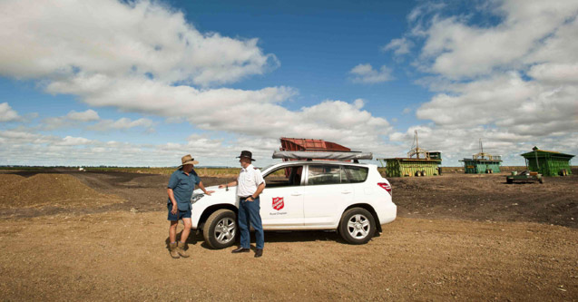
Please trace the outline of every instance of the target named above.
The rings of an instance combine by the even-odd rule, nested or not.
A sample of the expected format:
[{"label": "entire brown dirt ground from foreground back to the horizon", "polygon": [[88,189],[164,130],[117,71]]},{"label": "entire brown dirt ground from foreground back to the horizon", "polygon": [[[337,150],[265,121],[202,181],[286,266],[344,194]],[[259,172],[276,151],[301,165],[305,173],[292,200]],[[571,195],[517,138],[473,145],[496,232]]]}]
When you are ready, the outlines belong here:
[{"label": "entire brown dirt ground from foreground back to the horizon", "polygon": [[[578,300],[575,175],[392,178],[399,217],[367,245],[267,232],[256,259],[191,234],[191,258],[172,259],[168,176],[53,172],[122,202],[0,207],[2,300]],[[0,190],[35,175],[0,174]]]}]

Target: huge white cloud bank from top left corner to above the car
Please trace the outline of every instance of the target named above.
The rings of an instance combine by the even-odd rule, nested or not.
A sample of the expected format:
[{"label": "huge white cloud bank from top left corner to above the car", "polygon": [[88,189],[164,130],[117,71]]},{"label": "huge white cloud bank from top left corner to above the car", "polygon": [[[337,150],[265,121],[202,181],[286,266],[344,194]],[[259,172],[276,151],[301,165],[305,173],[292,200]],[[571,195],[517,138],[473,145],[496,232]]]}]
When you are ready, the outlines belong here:
[{"label": "huge white cloud bank from top left corner to above the car", "polygon": [[[279,62],[263,53],[258,39],[201,33],[161,2],[8,0],[0,3],[0,11],[5,13],[0,74],[40,80],[47,93],[72,94],[93,107],[186,119],[197,129],[254,139],[345,138],[356,144],[378,141],[383,147],[380,135],[391,131],[385,119],[359,102],[327,100],[291,111],[283,102],[297,94],[295,89],[222,87],[267,73]],[[375,76],[363,76],[381,81],[385,73],[384,67]],[[146,119],[101,121],[92,129],[150,124]]]}]

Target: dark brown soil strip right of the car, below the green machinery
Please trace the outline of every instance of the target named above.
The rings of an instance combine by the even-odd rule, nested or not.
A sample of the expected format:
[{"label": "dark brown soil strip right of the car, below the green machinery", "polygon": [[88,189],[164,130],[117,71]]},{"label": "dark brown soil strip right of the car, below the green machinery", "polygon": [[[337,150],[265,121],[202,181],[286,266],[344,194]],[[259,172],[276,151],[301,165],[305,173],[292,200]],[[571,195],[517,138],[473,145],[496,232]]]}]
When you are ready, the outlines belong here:
[{"label": "dark brown soil strip right of the car, below the green machinery", "polygon": [[391,178],[400,216],[427,219],[533,221],[578,228],[578,175],[544,184],[505,182],[502,174]]}]

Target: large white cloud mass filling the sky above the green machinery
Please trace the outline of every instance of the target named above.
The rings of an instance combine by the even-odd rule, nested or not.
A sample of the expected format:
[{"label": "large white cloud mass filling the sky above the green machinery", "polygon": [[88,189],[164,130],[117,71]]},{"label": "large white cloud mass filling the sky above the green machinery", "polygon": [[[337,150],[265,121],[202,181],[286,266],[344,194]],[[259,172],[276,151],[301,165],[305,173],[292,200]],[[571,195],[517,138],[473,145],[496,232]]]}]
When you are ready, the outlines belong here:
[{"label": "large white cloud mass filling the sky above the green machinery", "polygon": [[485,138],[496,153],[538,145],[575,154],[578,2],[487,2],[477,13],[500,21],[486,26],[472,24],[471,15],[448,16],[445,8],[421,5],[408,18],[407,36],[421,43],[414,65],[432,74],[418,82],[437,92],[416,110],[433,122],[420,132],[443,150],[475,151]]}]

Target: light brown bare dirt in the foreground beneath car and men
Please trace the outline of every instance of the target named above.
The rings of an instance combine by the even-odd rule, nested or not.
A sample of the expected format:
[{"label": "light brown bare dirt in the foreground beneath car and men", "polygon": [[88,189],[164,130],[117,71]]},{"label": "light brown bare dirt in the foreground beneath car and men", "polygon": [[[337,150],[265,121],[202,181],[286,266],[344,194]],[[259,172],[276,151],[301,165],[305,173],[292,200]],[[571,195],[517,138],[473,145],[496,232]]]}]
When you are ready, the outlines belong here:
[{"label": "light brown bare dirt in the foreground beneath car and men", "polygon": [[[163,212],[0,222],[2,300],[578,299],[578,230],[399,218],[367,245],[266,233],[263,258],[191,235],[172,259]],[[181,227],[180,227],[181,228]]]}]

